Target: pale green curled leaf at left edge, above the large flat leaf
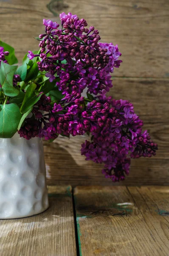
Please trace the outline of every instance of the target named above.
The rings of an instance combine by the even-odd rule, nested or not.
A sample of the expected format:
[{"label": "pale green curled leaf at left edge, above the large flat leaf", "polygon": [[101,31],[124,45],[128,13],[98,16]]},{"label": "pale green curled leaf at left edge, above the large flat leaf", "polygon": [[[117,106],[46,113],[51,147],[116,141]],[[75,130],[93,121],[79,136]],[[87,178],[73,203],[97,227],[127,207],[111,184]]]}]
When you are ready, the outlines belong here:
[{"label": "pale green curled leaf at left edge, above the large flat leaf", "polygon": [[19,87],[13,86],[13,78],[16,70],[17,66],[11,66],[1,61],[0,84],[6,96],[17,96],[20,92]]}]

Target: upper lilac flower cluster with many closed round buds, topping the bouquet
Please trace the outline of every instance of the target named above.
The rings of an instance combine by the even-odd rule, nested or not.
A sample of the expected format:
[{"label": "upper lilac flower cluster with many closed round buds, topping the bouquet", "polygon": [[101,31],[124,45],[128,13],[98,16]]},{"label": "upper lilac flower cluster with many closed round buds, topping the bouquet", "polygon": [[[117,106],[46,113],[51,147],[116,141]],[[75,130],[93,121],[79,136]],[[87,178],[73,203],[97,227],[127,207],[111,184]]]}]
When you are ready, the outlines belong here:
[{"label": "upper lilac flower cluster with many closed round buds, topping the bouquet", "polygon": [[72,93],[82,93],[86,87],[95,95],[103,89],[109,91],[113,86],[110,72],[121,63],[117,45],[99,43],[98,30],[93,26],[87,29],[86,20],[79,20],[76,15],[62,13],[60,19],[62,29],[56,22],[43,20],[46,33],[39,35],[40,54],[29,51],[28,57],[41,58],[39,70],[45,70],[50,81],[59,77],[57,86],[66,99],[71,99]]}]

